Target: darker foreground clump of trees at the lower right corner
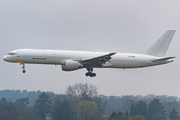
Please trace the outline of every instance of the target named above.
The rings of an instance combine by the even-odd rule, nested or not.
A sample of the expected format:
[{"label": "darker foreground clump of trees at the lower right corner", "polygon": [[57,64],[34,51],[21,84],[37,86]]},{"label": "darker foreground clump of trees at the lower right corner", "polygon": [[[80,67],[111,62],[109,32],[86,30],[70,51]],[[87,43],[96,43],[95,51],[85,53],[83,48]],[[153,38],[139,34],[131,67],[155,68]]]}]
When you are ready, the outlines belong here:
[{"label": "darker foreground clump of trees at the lower right corner", "polygon": [[166,114],[164,106],[159,99],[153,99],[148,105],[144,101],[132,102],[131,109],[125,112],[115,111],[111,114],[110,120],[179,120],[176,109]]}]

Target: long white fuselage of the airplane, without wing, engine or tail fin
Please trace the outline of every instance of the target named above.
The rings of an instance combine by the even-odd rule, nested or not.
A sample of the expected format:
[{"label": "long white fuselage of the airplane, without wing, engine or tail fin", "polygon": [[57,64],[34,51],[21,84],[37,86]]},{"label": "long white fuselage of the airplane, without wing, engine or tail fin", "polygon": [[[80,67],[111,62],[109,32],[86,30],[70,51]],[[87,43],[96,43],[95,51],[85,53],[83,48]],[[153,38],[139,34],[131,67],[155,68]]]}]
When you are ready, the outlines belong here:
[{"label": "long white fuselage of the airplane, without wing, engine or tail fin", "polygon": [[[15,54],[11,54],[15,53]],[[17,49],[3,57],[3,60],[14,63],[28,64],[54,64],[64,65],[67,60],[80,61],[109,54],[109,52],[90,52],[90,51],[69,51],[69,50],[46,50],[46,49]],[[104,68],[140,68],[172,62],[172,59],[152,62],[162,57],[144,54],[116,53],[111,56],[102,67]]]}]

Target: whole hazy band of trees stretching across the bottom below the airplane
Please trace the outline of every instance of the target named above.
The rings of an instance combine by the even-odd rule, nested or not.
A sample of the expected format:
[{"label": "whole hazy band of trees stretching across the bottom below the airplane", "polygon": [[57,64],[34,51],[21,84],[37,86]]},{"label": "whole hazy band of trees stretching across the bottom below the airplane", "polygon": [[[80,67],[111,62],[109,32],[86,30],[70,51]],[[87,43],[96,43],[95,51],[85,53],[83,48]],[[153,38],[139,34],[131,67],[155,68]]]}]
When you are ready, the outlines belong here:
[{"label": "whole hazy band of trees stretching across the bottom below the airplane", "polygon": [[[5,92],[8,91],[9,95]],[[179,120],[179,99],[168,96],[104,96],[97,87],[77,83],[66,94],[53,92],[0,91],[0,120]],[[3,95],[1,94],[3,93]],[[37,93],[39,95],[37,95]],[[18,94],[22,98],[18,98]]]}]

